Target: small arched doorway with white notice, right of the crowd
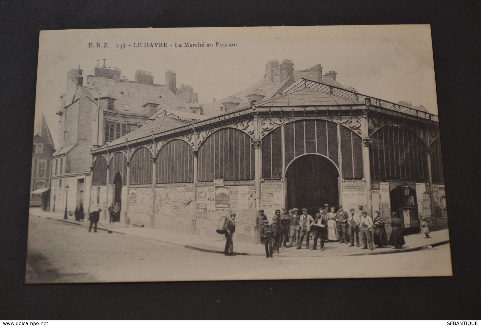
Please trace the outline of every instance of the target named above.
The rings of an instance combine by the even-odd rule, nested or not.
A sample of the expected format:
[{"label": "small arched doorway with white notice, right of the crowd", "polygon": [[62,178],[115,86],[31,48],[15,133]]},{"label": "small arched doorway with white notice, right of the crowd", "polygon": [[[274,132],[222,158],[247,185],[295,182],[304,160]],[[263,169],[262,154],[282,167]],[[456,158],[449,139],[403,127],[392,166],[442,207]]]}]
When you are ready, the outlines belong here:
[{"label": "small arched doorway with white notice, right of the crowd", "polygon": [[397,186],[390,192],[391,211],[403,221],[404,233],[419,232],[418,202],[416,190],[404,186]]}]

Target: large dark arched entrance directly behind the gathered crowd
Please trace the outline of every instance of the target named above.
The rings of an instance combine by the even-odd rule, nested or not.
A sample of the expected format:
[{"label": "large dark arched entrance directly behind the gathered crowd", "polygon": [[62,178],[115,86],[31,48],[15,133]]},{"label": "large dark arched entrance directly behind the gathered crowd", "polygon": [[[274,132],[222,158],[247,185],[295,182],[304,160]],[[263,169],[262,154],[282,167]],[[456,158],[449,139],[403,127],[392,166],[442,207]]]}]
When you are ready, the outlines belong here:
[{"label": "large dark arched entrance directly behind the gathered crowd", "polygon": [[325,203],[339,205],[339,172],[324,156],[304,154],[297,157],[289,164],[285,180],[289,208],[307,208],[314,217]]}]

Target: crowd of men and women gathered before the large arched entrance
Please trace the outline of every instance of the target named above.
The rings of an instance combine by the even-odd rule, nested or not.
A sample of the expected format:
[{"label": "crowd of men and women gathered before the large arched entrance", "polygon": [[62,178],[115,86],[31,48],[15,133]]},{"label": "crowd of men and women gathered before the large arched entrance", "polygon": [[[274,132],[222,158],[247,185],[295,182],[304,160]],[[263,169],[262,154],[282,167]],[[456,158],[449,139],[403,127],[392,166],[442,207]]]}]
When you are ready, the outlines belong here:
[{"label": "crowd of men and women gathered before the large arched entrance", "polygon": [[[302,214],[299,209],[286,208],[275,211],[272,223],[269,224],[264,210],[259,210],[255,217],[255,226],[259,242],[266,248],[266,258],[273,257],[273,253],[279,253],[279,249],[295,246],[297,250],[302,249],[305,239],[305,249],[317,250],[317,243],[320,250],[324,250],[325,242],[339,241],[354,247],[354,242],[361,249],[374,250],[374,246],[384,248],[392,246],[401,249],[405,244],[403,236],[403,223],[396,212],[392,213],[392,233],[387,238],[385,219],[379,212],[374,212],[374,218],[367,215],[363,205],[358,205],[349,213],[344,211],[342,206],[336,207],[325,204],[320,207],[316,217],[308,214],[308,209],[303,208]],[[426,224],[427,229],[427,224]],[[349,231],[348,231],[349,230]],[[429,229],[421,231],[429,237]],[[310,239],[314,238],[310,247]]]}]

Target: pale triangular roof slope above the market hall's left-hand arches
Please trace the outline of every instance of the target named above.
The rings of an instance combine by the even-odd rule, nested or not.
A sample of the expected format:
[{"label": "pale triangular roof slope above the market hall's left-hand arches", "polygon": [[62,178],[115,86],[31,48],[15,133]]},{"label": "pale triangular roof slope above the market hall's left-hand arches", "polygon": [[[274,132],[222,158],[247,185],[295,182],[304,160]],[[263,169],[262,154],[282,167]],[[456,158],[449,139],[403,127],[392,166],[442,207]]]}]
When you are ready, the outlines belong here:
[{"label": "pale triangular roof slope above the market hall's left-hand arches", "polygon": [[136,129],[125,136],[117,138],[114,141],[111,141],[110,143],[102,147],[122,144],[126,141],[126,138],[128,139],[128,141],[132,141],[132,140],[148,137],[152,135],[152,131],[154,134],[158,134],[167,130],[175,129],[175,128],[182,127],[184,125],[189,125],[189,124],[190,122],[188,121],[180,121],[180,120],[171,118],[167,115],[159,116],[152,122],[149,122],[148,124],[141,126],[139,129]]}]

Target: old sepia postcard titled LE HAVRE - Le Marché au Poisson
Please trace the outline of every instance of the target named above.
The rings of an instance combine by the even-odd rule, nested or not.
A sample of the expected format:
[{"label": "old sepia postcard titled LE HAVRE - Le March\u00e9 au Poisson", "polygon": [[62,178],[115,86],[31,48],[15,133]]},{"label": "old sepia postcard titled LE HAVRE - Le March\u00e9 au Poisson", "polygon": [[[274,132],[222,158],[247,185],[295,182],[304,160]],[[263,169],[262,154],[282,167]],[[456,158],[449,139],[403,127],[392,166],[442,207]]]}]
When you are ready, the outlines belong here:
[{"label": "old sepia postcard titled LE HAVRE - Le March\u00e9 au Poisson", "polygon": [[41,31],[26,283],[451,276],[429,25]]}]

